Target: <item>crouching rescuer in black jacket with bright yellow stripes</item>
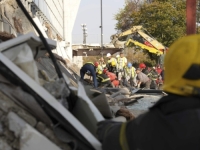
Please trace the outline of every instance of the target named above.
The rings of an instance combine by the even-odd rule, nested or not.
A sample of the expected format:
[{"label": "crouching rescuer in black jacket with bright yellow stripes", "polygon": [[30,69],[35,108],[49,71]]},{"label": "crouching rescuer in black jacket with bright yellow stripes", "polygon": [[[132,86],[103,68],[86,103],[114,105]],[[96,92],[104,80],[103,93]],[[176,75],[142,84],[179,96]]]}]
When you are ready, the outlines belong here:
[{"label": "crouching rescuer in black jacket with bright yellow stripes", "polygon": [[113,87],[110,78],[104,73],[97,74],[97,81],[99,87]]}]

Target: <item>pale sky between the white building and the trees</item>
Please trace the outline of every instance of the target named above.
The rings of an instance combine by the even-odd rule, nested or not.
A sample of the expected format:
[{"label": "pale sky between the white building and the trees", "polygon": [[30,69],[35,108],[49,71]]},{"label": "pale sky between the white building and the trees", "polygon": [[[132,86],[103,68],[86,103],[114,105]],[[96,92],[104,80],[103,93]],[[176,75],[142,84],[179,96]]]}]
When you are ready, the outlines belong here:
[{"label": "pale sky between the white building and the trees", "polygon": [[[81,24],[87,25],[87,43],[101,43],[101,0],[81,0],[77,18],[72,32],[72,43],[83,42]],[[110,36],[115,34],[114,15],[125,5],[124,0],[102,0],[103,9],[103,43],[110,43]]]}]

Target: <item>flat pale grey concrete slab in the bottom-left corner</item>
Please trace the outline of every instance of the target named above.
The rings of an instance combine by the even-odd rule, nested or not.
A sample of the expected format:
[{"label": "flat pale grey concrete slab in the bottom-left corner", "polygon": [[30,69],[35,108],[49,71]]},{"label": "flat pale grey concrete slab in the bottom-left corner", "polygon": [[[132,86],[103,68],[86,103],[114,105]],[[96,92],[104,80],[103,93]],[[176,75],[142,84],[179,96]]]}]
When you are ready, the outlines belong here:
[{"label": "flat pale grey concrete slab in the bottom-left corner", "polygon": [[7,118],[9,130],[14,132],[15,137],[19,138],[20,150],[61,150],[23,119],[18,117],[17,114],[9,112]]}]

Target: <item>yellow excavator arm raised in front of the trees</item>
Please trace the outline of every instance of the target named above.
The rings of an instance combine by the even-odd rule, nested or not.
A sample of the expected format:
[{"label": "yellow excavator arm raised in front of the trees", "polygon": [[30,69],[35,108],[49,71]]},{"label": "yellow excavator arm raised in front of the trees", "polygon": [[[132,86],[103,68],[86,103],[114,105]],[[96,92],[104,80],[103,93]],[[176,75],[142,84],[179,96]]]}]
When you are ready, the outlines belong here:
[{"label": "yellow excavator arm raised in front of the trees", "polygon": [[[124,40],[126,38],[126,40]],[[166,47],[152,37],[142,26],[132,28],[111,36],[111,43],[116,48],[125,48],[133,44],[158,56],[158,63],[162,63]]]}]

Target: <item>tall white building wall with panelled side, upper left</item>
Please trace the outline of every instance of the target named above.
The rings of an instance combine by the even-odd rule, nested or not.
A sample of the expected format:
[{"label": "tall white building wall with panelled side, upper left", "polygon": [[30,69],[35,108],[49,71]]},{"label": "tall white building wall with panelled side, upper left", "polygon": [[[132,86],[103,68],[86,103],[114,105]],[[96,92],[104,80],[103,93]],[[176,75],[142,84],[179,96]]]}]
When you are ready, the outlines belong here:
[{"label": "tall white building wall with panelled side, upper left", "polygon": [[[72,30],[80,0],[33,0],[33,2],[50,22],[56,37],[58,34],[61,38],[59,40],[53,36],[57,41],[57,49],[54,52],[72,60]],[[42,25],[46,21],[44,18],[40,20]]]}]

